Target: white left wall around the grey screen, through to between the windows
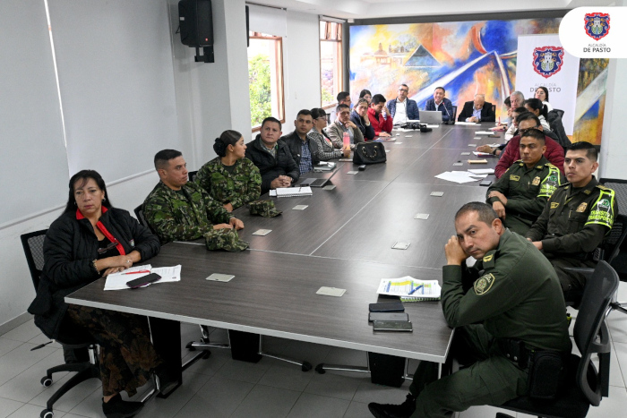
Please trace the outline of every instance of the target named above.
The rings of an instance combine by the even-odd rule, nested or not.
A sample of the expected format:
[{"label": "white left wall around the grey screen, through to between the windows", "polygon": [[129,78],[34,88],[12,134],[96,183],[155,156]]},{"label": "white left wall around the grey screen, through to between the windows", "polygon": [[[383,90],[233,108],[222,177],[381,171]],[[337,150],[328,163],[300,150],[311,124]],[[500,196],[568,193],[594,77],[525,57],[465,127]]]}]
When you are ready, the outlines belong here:
[{"label": "white left wall around the grey screen, through to between the windows", "polygon": [[[213,140],[222,131],[236,129],[245,138],[251,132],[245,0],[213,0],[214,64],[195,63],[195,50],[181,44],[180,35],[175,33],[178,28],[177,0],[143,1],[146,6],[152,4],[153,7],[167,8],[169,25],[163,30],[168,31],[172,48],[172,83],[177,118],[177,138],[173,138],[172,143],[173,147],[180,147],[189,168],[198,169],[215,157]],[[113,13],[125,13],[124,2],[112,3],[118,4]],[[3,34],[2,30],[0,28],[0,35]],[[133,33],[133,30],[136,29],[125,28],[129,38],[142,38],[141,33]],[[288,13],[288,37],[284,41],[283,50],[288,120],[286,132],[293,129],[292,121],[298,110],[320,106],[318,38],[317,15]],[[53,99],[56,98],[50,100]],[[115,124],[116,121],[112,120],[111,123]],[[20,138],[11,140],[20,141]],[[151,159],[152,155],[142,158]],[[149,171],[124,182],[107,185],[108,195],[116,207],[132,212],[158,181],[157,174]],[[37,184],[30,184],[25,190],[37,193]],[[65,200],[64,193],[60,197],[61,201]],[[0,203],[3,208],[8,204],[6,201]],[[20,235],[47,228],[60,213],[60,208],[53,207],[47,214],[0,229],[0,264],[3,266],[3,274],[0,275],[0,329],[7,323],[14,325],[14,320],[21,317],[35,295],[21,250]]]}]

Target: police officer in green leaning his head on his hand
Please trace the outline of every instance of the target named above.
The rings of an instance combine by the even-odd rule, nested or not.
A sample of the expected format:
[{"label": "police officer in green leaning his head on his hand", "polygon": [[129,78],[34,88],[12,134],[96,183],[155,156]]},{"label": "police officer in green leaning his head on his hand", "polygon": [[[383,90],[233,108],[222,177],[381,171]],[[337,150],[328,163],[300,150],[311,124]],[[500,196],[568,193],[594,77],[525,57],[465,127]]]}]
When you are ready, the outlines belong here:
[{"label": "police officer in green leaning his head on his hand", "polygon": [[[529,359],[537,352],[571,353],[551,263],[485,203],[464,205],[455,229],[444,247],[442,311],[456,327],[451,354],[468,367],[437,380],[437,363],[421,362],[403,404],[368,405],[378,418],[446,417],[500,405],[528,393]],[[477,260],[472,268],[468,256]]]}]

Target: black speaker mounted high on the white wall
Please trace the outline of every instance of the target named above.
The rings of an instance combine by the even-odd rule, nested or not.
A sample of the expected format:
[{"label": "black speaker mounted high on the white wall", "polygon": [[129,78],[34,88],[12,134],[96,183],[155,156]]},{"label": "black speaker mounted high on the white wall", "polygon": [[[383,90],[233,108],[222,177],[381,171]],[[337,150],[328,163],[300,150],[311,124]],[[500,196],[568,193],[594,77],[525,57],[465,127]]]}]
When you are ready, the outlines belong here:
[{"label": "black speaker mounted high on the white wall", "polygon": [[181,0],[178,2],[181,42],[188,47],[213,45],[213,13],[211,0]]}]

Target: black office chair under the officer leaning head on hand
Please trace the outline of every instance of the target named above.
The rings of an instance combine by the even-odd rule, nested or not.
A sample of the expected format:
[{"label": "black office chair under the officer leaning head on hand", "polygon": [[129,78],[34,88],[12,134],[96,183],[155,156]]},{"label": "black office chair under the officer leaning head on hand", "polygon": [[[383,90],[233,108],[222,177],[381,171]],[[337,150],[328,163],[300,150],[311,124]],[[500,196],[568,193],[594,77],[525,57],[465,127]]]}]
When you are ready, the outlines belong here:
[{"label": "black office chair under the officer leaning head on hand", "polygon": [[[612,343],[606,324],[606,311],[616,289],[618,275],[606,261],[599,261],[592,277],[586,282],[580,313],[574,327],[574,340],[581,357],[571,354],[568,380],[563,392],[552,401],[517,397],[498,405],[499,408],[545,418],[583,418],[590,405],[598,406],[609,389],[610,350]],[[598,371],[592,355],[598,354]],[[496,414],[497,418],[511,418]]]}]

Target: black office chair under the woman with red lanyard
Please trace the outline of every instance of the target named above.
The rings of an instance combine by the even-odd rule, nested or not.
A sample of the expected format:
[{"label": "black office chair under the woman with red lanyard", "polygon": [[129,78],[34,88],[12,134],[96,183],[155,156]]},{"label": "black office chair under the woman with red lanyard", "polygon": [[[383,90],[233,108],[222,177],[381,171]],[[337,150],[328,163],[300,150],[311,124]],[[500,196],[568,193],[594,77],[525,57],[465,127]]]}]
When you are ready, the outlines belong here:
[{"label": "black office chair under the woman with red lanyard", "polygon": [[[41,269],[44,267],[44,237],[47,229],[32,232],[30,234],[21,235],[21,245],[24,247],[24,255],[29,264],[30,277],[35,286],[35,291],[39,287],[39,277]],[[88,362],[61,364],[52,367],[46,371],[46,376],[41,378],[41,384],[45,387],[52,385],[52,375],[58,371],[76,371],[76,374],[70,380],[67,380],[61,388],[47,400],[46,409],[41,411],[41,418],[52,418],[52,406],[55,402],[63,397],[65,392],[77,386],[84,380],[91,378],[100,379],[100,369],[98,364],[98,356],[96,355],[96,341],[83,328],[72,327],[67,329],[63,325],[56,341],[64,346],[64,349],[85,349],[87,348],[90,355]],[[41,345],[43,346],[43,345]],[[36,347],[38,348],[38,347]]]}]

